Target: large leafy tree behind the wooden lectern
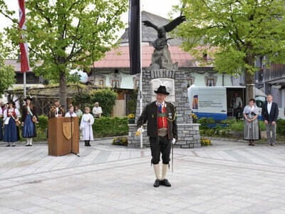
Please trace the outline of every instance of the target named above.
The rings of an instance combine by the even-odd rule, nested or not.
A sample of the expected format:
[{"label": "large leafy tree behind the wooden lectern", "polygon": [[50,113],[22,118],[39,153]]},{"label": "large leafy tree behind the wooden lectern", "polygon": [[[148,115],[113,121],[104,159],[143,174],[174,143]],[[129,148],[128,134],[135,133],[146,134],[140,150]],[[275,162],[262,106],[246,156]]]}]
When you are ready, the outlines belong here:
[{"label": "large leafy tree behind the wooden lectern", "polygon": [[[27,35],[31,66],[41,62],[33,71],[59,81],[61,105],[66,106],[69,71],[90,71],[93,61],[116,46],[116,32],[124,27],[120,15],[127,11],[128,0],[27,0],[26,9],[27,31],[20,33]],[[18,47],[16,23],[7,34]]]}]

